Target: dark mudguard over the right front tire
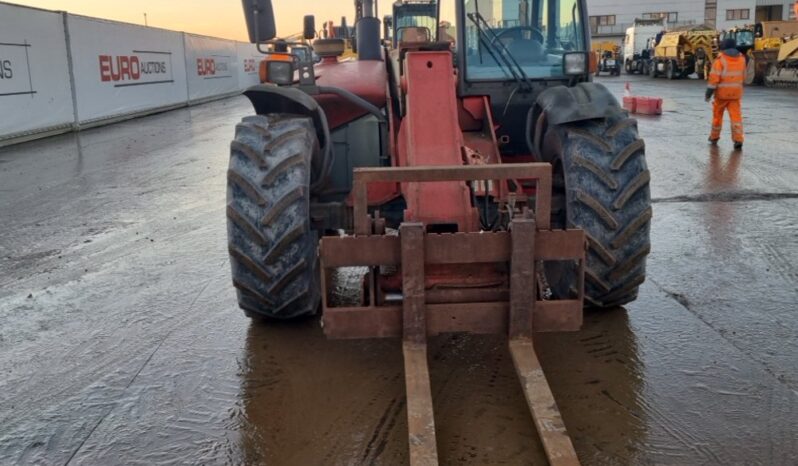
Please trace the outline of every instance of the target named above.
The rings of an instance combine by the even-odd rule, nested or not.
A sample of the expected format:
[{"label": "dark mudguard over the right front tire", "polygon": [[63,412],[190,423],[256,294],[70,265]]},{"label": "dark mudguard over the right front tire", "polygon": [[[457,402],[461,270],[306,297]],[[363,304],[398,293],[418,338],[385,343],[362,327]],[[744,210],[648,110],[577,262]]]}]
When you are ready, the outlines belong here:
[{"label": "dark mudguard over the right front tire", "polygon": [[536,106],[550,125],[606,118],[621,109],[606,87],[592,82],[546,89],[538,96]]}]

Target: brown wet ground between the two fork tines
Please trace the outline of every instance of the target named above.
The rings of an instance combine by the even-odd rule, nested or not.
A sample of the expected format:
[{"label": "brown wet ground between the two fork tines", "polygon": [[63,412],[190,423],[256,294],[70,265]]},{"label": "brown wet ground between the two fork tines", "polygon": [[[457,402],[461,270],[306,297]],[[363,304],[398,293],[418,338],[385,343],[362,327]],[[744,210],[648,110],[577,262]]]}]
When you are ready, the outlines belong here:
[{"label": "brown wet ground between the two fork tines", "polygon": [[443,335],[429,344],[441,463],[544,461],[506,336]]}]

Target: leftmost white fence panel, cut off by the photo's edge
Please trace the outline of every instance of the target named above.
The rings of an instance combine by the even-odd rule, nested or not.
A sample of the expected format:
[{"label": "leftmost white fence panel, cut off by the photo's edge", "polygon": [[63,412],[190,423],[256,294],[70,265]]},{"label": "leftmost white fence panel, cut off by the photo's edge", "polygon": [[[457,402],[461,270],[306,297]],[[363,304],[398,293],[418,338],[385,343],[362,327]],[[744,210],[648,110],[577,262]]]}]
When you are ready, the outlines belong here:
[{"label": "leftmost white fence panel, cut off by the photo's edge", "polygon": [[0,4],[0,141],[73,122],[62,14]]}]

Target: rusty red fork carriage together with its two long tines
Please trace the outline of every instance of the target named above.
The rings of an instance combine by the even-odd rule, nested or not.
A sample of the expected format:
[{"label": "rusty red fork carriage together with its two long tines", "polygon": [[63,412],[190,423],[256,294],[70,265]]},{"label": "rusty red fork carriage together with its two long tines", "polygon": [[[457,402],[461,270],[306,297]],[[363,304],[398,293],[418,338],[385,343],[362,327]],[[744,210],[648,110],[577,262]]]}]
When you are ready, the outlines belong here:
[{"label": "rusty red fork carriage together with its two long tines", "polygon": [[[422,223],[406,222],[399,227],[398,236],[389,236],[384,234],[381,219],[368,215],[370,182],[464,183],[511,177],[537,180],[538,196],[534,216],[524,208],[512,219],[510,231],[431,234],[425,233]],[[533,332],[578,330],[582,324],[585,234],[582,230],[549,229],[550,193],[548,164],[355,171],[357,235],[321,240],[322,323],[330,338],[403,338],[411,465],[438,464],[426,339],[449,332],[508,335],[513,364],[549,463],[579,464],[532,343]],[[577,299],[538,299],[536,266],[545,260],[578,262]],[[484,263],[509,264],[509,285],[444,290],[426,287],[426,274],[431,267]],[[327,292],[329,272],[348,266],[369,267],[368,302],[358,307],[331,307]],[[401,305],[378,301],[378,266],[401,268]]]}]

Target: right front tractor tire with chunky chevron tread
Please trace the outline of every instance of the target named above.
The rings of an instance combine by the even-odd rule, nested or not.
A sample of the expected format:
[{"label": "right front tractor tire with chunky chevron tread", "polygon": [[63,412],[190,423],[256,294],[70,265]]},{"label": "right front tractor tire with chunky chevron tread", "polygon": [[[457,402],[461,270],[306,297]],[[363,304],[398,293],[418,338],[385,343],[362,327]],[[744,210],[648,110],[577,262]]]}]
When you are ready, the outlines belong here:
[{"label": "right front tractor tire with chunky chevron tread", "polygon": [[[554,167],[553,228],[580,228],[588,240],[585,302],[610,308],[637,298],[651,250],[645,146],[620,109],[608,118],[549,127],[541,144]],[[556,297],[573,297],[573,264],[547,263]]]}]

